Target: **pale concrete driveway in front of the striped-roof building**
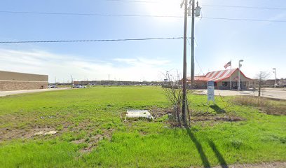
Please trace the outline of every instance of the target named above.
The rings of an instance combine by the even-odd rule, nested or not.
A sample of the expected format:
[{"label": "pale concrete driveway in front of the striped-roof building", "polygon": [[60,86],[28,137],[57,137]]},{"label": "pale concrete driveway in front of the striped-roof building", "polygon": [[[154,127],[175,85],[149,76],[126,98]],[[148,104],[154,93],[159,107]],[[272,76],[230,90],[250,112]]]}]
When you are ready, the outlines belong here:
[{"label": "pale concrete driveway in front of the striped-roof building", "polygon": [[[200,90],[196,94],[207,94],[207,90]],[[215,95],[221,96],[258,96],[258,91],[236,91],[236,90],[214,90]],[[264,88],[261,90],[262,97],[269,97],[273,99],[286,99],[286,89],[285,88]]]}]

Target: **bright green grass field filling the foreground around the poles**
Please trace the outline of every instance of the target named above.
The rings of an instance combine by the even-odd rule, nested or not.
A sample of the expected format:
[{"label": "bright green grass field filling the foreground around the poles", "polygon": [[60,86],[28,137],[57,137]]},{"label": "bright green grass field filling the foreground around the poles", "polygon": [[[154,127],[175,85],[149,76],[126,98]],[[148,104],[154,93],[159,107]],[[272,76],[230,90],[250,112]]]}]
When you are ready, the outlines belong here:
[{"label": "bright green grass field filling the foreground around the poles", "polygon": [[[286,161],[286,116],[191,95],[193,111],[240,121],[168,117],[123,122],[128,109],[166,109],[161,87],[92,87],[0,98],[0,167],[210,167]],[[283,102],[286,106],[286,103]],[[199,118],[192,118],[199,119]],[[57,130],[54,135],[34,136]]]}]

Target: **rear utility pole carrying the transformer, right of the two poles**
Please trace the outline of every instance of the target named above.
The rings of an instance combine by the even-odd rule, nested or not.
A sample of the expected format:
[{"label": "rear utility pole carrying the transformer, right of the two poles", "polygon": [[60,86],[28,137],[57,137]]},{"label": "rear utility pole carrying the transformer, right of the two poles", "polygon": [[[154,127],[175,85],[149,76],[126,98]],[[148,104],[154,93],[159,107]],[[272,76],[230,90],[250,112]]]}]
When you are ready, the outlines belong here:
[{"label": "rear utility pole carrying the transformer, right of the two poles", "polygon": [[[197,2],[198,6],[198,2]],[[195,78],[195,0],[191,1],[191,87],[193,87],[193,79]]]}]

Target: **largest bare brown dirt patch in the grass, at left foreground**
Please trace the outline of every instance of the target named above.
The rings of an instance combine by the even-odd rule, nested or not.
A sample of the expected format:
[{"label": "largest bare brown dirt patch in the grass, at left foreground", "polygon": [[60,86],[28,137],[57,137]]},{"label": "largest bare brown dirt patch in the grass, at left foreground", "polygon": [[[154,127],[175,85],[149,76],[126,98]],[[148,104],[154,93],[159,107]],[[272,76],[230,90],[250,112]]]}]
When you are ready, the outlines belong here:
[{"label": "largest bare brown dirt patch in the grass, at left foreground", "polygon": [[[11,116],[14,117],[14,116]],[[53,120],[54,116],[41,116],[39,120]],[[11,119],[11,118],[9,118]],[[15,118],[19,120],[19,118]],[[42,124],[42,123],[40,123]],[[81,134],[81,132],[86,132],[86,135],[82,139],[76,139],[71,141],[74,144],[86,144],[86,147],[81,149],[82,153],[88,153],[96,148],[98,142],[102,139],[111,139],[114,129],[100,129],[98,123],[94,123],[90,119],[82,120],[78,123],[69,123],[69,122],[58,122],[52,123],[53,125],[37,125],[36,123],[25,123],[23,127],[18,125],[9,125],[7,127],[0,128],[0,143],[2,141],[10,141],[12,139],[41,139],[46,137],[50,133],[51,137],[58,137],[64,132],[74,132],[75,134]],[[55,126],[56,125],[56,126]],[[100,130],[99,130],[100,129]],[[99,130],[98,133],[95,133],[96,130]]]}]

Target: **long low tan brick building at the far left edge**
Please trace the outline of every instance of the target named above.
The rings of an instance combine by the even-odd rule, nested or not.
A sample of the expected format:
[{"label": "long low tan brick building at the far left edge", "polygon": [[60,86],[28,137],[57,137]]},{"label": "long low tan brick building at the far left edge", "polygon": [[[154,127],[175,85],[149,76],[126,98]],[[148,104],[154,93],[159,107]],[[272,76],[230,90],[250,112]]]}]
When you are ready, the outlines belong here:
[{"label": "long low tan brick building at the far left edge", "polygon": [[0,91],[46,88],[48,88],[47,75],[0,71]]}]

